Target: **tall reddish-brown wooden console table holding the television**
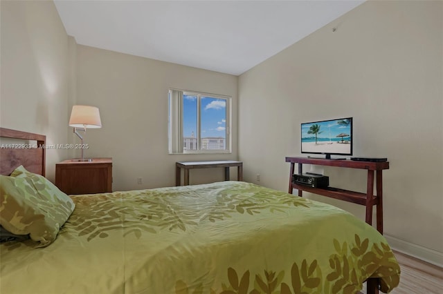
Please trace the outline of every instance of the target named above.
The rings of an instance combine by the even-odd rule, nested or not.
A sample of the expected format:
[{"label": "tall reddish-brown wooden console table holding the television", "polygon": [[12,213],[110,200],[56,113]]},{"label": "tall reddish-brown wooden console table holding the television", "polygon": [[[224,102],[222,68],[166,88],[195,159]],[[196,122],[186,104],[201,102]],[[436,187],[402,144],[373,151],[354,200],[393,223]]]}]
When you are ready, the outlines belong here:
[{"label": "tall reddish-brown wooden console table holding the television", "polygon": [[[289,171],[289,193],[292,194],[293,188],[298,190],[298,196],[302,196],[302,191],[323,195],[335,199],[361,204],[366,206],[365,221],[372,225],[372,206],[377,205],[377,231],[383,234],[383,184],[382,171],[389,169],[389,162],[371,162],[371,161],[352,161],[352,160],[334,160],[334,159],[316,159],[307,157],[286,157],[286,162],[291,163]],[[351,190],[339,188],[313,188],[303,184],[292,182],[294,166],[298,164],[298,174],[303,173],[303,164],[315,164],[319,166],[336,166],[341,168],[359,168],[368,170],[368,179],[366,184],[366,193],[359,193]],[[374,173],[377,195],[374,195]]]}]

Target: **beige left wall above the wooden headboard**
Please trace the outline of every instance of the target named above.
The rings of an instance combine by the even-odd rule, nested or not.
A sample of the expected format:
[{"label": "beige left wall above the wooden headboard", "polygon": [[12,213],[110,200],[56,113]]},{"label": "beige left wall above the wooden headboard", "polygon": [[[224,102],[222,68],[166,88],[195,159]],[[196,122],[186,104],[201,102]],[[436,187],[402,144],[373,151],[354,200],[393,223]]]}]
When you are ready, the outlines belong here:
[{"label": "beige left wall above the wooden headboard", "polygon": [[[69,38],[52,1],[1,1],[0,125],[67,139]],[[46,176],[66,150],[46,150]]]}]

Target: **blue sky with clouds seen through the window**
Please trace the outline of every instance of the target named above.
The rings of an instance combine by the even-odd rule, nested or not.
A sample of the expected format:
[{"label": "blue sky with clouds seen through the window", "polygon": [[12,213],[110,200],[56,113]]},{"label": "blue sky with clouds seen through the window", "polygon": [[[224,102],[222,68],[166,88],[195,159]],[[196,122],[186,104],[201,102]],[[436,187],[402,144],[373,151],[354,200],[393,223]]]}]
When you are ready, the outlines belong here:
[{"label": "blue sky with clouds seen through the window", "polygon": [[[183,137],[197,137],[197,97],[183,95]],[[226,101],[201,98],[201,137],[226,137]]]}]

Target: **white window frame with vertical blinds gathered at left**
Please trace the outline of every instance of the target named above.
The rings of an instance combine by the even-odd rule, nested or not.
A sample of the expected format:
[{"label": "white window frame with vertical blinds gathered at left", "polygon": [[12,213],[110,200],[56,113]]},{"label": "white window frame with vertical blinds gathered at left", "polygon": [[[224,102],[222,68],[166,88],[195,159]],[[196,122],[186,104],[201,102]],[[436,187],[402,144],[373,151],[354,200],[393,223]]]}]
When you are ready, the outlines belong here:
[{"label": "white window frame with vertical blinds gathered at left", "polygon": [[[174,96],[175,95],[175,96]],[[197,150],[184,150],[183,136],[183,96],[197,97]],[[225,122],[225,149],[202,150],[201,140],[201,99],[204,97],[213,99],[223,99],[226,101],[226,122]],[[177,101],[179,100],[179,101]],[[179,90],[170,88],[168,92],[168,153],[169,154],[228,154],[232,153],[231,146],[231,113],[232,113],[232,97],[228,95],[220,95],[195,90]]]}]

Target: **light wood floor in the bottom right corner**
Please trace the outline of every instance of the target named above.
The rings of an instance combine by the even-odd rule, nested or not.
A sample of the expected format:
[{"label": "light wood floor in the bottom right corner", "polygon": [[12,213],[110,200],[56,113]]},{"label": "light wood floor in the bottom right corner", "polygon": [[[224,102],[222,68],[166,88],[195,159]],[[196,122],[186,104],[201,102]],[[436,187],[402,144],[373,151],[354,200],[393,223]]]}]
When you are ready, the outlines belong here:
[{"label": "light wood floor in the bottom right corner", "polygon": [[[400,284],[392,294],[442,294],[443,268],[394,251],[400,264]],[[363,291],[365,293],[365,291]]]}]

